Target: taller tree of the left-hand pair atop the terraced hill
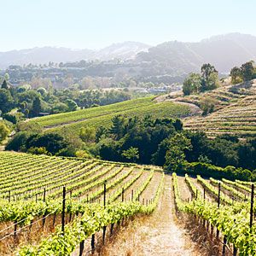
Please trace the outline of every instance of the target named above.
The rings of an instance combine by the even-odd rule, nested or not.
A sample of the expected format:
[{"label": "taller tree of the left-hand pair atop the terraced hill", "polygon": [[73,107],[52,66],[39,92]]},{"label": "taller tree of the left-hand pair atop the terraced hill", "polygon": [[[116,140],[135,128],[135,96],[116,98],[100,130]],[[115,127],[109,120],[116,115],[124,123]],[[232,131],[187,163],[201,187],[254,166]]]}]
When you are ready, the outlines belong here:
[{"label": "taller tree of the left-hand pair atop the terraced hill", "polygon": [[218,71],[211,64],[201,67],[201,91],[212,90],[218,87]]}]

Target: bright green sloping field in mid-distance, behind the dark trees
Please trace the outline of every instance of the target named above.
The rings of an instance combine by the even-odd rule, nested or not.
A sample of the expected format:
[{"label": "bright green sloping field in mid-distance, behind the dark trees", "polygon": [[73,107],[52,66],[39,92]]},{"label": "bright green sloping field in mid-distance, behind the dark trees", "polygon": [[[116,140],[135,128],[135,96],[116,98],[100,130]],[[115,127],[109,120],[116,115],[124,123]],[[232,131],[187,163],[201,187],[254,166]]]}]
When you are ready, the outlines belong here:
[{"label": "bright green sloping field in mid-distance, behind the dark trees", "polygon": [[58,113],[32,119],[45,129],[58,130],[63,126],[79,131],[80,127],[90,125],[110,125],[114,115],[123,114],[127,117],[152,115],[158,118],[181,118],[190,114],[190,108],[173,102],[154,102],[153,97],[146,97],[126,102],[115,103],[97,108],[87,108],[69,113]]}]

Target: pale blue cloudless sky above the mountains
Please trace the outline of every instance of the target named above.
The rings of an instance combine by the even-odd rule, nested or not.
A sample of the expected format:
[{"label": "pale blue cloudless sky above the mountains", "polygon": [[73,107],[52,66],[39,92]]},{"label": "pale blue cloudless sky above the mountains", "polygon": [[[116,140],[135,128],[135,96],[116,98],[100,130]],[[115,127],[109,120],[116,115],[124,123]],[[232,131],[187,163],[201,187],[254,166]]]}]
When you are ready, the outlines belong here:
[{"label": "pale blue cloudless sky above the mountains", "polygon": [[256,35],[254,0],[0,0],[0,51]]}]

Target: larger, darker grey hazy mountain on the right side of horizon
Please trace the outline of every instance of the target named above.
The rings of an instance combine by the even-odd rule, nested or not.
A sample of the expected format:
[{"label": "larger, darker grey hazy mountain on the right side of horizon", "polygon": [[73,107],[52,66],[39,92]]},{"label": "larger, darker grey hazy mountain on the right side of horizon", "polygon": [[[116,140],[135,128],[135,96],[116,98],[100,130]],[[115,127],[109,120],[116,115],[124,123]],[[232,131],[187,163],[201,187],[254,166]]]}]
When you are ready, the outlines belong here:
[{"label": "larger, darker grey hazy mountain on the right side of horizon", "polygon": [[203,39],[198,43],[166,42],[139,53],[137,62],[151,62],[162,74],[181,75],[199,71],[201,64],[212,63],[221,73],[245,61],[256,60],[256,37],[230,33]]}]

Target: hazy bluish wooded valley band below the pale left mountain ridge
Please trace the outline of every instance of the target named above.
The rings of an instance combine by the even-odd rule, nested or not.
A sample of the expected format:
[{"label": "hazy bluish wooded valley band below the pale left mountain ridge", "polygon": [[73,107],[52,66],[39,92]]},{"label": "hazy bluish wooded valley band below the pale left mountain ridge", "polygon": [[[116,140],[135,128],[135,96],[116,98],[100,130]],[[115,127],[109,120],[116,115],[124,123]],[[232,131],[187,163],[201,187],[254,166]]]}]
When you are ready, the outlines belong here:
[{"label": "hazy bluish wooded valley band below the pale left mountain ridge", "polygon": [[[154,69],[154,68],[153,68]],[[142,68],[139,68],[142,71]],[[138,76],[137,64],[114,61],[78,61],[67,63],[49,62],[48,65],[11,65],[7,72],[15,83],[25,82],[33,87],[53,85],[54,88],[67,88],[78,84],[80,90],[94,90],[102,88],[151,88],[165,86],[173,82],[182,81],[182,78],[173,76],[147,77]],[[164,83],[164,84],[162,84]],[[45,86],[44,86],[45,87]]]}]

